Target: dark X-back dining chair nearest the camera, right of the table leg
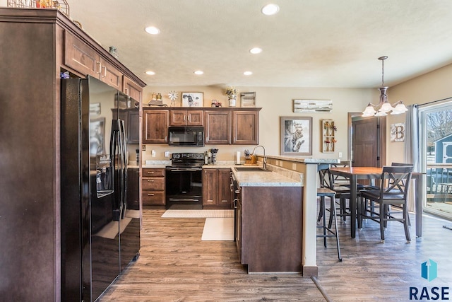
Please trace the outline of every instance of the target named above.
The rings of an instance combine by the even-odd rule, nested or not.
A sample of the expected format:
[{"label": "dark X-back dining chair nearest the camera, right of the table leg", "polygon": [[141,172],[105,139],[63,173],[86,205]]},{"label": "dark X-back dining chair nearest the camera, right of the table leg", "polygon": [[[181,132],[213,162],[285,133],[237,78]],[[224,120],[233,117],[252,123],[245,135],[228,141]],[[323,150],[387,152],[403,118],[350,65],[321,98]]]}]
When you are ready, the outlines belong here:
[{"label": "dark X-back dining chair nearest the camera, right of the table leg", "polygon": [[[359,197],[358,219],[371,219],[380,224],[381,242],[384,243],[384,229],[388,221],[400,221],[405,228],[407,242],[411,241],[408,229],[408,202],[407,194],[412,176],[412,165],[404,166],[383,166],[383,173],[380,178],[379,190],[362,190]],[[379,205],[376,207],[367,204],[370,201]],[[391,206],[399,210],[393,211]],[[401,211],[400,211],[401,210]],[[401,216],[400,216],[401,214]],[[361,223],[362,225],[362,223]]]}]

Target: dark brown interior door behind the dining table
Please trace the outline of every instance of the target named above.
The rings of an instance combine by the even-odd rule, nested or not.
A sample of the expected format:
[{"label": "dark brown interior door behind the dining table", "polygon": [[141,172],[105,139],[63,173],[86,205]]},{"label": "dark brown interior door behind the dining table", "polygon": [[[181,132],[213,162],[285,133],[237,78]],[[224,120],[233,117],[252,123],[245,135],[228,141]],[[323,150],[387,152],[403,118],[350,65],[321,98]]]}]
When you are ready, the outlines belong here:
[{"label": "dark brown interior door behind the dining table", "polygon": [[352,118],[352,165],[381,167],[386,163],[386,117]]}]

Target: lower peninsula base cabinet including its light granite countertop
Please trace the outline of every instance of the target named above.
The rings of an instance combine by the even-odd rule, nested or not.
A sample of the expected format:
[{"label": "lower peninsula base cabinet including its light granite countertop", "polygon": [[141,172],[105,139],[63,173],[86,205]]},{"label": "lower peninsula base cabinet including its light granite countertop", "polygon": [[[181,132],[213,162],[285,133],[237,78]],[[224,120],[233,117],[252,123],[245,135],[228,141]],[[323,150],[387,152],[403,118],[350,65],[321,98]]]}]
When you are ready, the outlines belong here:
[{"label": "lower peninsula base cabinet including its light granite countertop", "polygon": [[280,173],[231,169],[239,260],[248,272],[301,272],[303,175],[270,168]]}]

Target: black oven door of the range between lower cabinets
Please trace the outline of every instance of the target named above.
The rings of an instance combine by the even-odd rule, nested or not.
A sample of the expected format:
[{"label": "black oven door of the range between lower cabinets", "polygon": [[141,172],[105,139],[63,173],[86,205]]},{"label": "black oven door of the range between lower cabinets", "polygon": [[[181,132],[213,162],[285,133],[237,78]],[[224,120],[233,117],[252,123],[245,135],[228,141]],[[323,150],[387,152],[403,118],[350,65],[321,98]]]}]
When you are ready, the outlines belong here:
[{"label": "black oven door of the range between lower cabinets", "polygon": [[[177,206],[203,206],[203,173],[201,167],[167,167],[166,198],[167,208]],[[188,207],[183,207],[188,208]]]}]

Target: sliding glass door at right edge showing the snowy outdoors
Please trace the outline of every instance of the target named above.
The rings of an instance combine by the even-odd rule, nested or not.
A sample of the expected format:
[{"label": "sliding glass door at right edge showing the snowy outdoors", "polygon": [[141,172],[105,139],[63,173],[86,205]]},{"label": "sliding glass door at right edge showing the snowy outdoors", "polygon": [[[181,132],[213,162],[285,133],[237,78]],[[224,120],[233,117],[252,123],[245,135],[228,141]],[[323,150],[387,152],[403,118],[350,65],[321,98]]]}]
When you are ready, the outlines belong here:
[{"label": "sliding glass door at right edge showing the snowy outdoors", "polygon": [[452,101],[421,105],[422,170],[427,172],[424,211],[452,220]]}]

